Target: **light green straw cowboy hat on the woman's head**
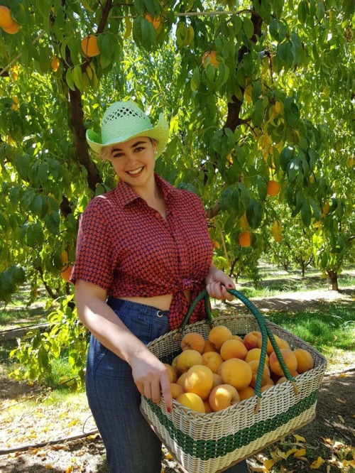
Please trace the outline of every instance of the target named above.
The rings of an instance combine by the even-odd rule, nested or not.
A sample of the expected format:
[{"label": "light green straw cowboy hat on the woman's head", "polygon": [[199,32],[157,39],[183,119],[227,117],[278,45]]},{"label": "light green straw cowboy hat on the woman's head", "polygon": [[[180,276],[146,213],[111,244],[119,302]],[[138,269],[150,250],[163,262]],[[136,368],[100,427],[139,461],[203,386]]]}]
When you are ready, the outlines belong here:
[{"label": "light green straw cowboy hat on the woman's head", "polygon": [[105,146],[124,143],[136,136],[153,138],[157,141],[155,158],[158,158],[168,143],[169,125],[160,114],[158,125],[153,127],[138,105],[128,100],[115,102],[107,109],[101,122],[101,136],[94,130],[87,130],[86,136],[87,143],[97,154]]}]

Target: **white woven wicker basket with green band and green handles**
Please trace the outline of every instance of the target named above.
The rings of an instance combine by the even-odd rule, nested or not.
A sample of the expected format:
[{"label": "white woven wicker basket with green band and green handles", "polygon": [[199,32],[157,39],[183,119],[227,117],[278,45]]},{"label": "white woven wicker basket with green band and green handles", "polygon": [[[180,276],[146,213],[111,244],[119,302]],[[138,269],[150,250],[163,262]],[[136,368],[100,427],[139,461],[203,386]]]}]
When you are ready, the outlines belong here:
[{"label": "white woven wicker basket with green band and green handles", "polygon": [[[142,396],[141,411],[151,427],[187,473],[222,472],[232,464],[244,460],[281,437],[297,430],[315,418],[317,393],[327,365],[322,355],[309,344],[272,322],[266,322],[250,300],[238,291],[229,290],[253,312],[253,315],[219,316],[214,325],[225,325],[234,335],[261,331],[261,369],[266,357],[267,338],[271,339],[285,376],[290,382],[277,384],[261,394],[261,375],[256,381],[256,396],[215,413],[197,413],[173,401],[173,411],[167,413],[164,400],[158,405]],[[207,293],[202,293],[206,298]],[[207,339],[212,317],[207,310],[207,322],[186,325],[195,305],[189,310],[181,327],[148,344],[156,357],[171,363],[181,352],[181,332],[199,332]],[[209,304],[208,304],[209,307]],[[315,366],[293,379],[283,362],[273,334],[285,339],[291,349],[304,348],[312,354]],[[275,344],[274,344],[275,343]]]}]

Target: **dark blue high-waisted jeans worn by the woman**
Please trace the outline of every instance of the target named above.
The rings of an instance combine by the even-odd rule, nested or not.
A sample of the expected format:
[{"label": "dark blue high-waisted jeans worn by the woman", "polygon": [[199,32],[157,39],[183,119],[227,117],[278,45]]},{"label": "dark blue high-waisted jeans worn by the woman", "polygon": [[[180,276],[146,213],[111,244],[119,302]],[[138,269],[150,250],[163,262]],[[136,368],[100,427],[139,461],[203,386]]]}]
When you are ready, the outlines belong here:
[{"label": "dark blue high-waisted jeans worn by the woman", "polygon": [[[169,331],[168,312],[127,300],[109,298],[107,303],[146,344]],[[161,442],[139,410],[141,394],[134,384],[131,366],[93,336],[87,357],[86,388],[110,472],[160,473]],[[246,462],[240,462],[226,471],[246,473],[248,469]]]}]

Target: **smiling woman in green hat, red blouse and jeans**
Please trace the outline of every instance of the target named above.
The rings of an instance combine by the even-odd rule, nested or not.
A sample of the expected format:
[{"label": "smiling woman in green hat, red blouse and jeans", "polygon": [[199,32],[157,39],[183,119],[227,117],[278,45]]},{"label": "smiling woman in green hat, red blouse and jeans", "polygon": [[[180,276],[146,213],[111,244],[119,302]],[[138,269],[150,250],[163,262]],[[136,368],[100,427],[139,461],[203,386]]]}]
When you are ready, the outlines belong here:
[{"label": "smiling woman in green hat, red blouse and jeans", "polygon": [[[72,272],[77,312],[91,332],[87,397],[114,473],[160,473],[161,443],[141,415],[141,395],[173,408],[168,372],[146,347],[180,325],[190,301],[207,288],[231,296],[231,278],[212,266],[212,241],[200,199],[154,173],[168,141],[133,102],[116,102],[89,146],[119,176],[80,219]],[[204,318],[203,301],[191,321]],[[234,468],[234,469],[233,469]],[[239,464],[228,470],[246,472]]]}]

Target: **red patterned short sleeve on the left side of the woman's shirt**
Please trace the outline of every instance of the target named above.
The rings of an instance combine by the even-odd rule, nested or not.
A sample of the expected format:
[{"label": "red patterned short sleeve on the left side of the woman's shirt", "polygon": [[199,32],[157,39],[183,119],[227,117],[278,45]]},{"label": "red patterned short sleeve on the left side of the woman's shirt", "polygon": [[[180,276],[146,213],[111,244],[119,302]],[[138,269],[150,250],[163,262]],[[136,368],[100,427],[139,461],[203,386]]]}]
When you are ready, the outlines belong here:
[{"label": "red patterned short sleeve on the left side of the woman's shirt", "polygon": [[107,290],[112,282],[112,245],[106,207],[104,200],[97,197],[80,217],[72,283],[82,279]]}]

